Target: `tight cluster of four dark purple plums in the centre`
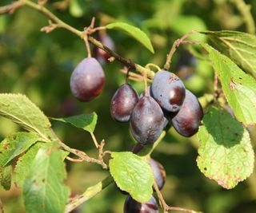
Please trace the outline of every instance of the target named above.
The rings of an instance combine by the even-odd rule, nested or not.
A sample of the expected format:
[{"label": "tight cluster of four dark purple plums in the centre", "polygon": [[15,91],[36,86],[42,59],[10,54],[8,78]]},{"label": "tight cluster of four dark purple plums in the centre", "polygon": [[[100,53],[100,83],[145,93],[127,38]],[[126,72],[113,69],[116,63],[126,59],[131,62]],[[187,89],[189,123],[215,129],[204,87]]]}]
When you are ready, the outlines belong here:
[{"label": "tight cluster of four dark purple plums in the centre", "polygon": [[197,97],[166,70],[155,74],[148,95],[138,97],[131,85],[122,85],[112,97],[110,113],[114,120],[130,120],[130,131],[143,145],[158,140],[168,123],[182,136],[193,136],[203,115]]}]

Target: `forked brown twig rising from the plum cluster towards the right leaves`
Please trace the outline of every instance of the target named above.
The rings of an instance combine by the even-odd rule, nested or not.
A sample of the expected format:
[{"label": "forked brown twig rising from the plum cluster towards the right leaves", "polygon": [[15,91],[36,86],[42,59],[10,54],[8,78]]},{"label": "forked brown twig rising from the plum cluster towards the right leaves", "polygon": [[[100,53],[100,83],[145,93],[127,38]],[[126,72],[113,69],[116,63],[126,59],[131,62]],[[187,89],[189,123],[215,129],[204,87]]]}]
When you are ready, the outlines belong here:
[{"label": "forked brown twig rising from the plum cluster towards the right leaves", "polygon": [[164,69],[169,70],[170,69],[170,63],[171,63],[171,59],[176,51],[176,49],[178,48],[178,46],[180,44],[197,44],[198,42],[196,41],[184,41],[187,37],[189,37],[192,34],[197,33],[196,31],[192,30],[189,33],[185,34],[184,36],[182,36],[181,38],[177,39],[176,41],[174,41],[174,45],[172,46],[172,48],[170,49],[170,53],[167,55],[166,57],[166,64],[164,65]]}]

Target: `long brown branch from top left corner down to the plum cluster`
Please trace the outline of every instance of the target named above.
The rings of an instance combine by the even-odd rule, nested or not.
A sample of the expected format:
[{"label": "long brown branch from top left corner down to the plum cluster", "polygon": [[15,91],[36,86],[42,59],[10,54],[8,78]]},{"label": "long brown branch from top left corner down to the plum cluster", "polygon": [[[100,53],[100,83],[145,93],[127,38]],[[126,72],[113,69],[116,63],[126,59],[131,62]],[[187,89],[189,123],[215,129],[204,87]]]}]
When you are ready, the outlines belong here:
[{"label": "long brown branch from top left corner down to the plum cluster", "polygon": [[[19,2],[19,4],[17,6],[18,2]],[[2,13],[0,12],[0,14],[10,12],[10,10],[12,9],[12,6],[13,6],[13,9],[17,9],[20,6],[28,6],[32,9],[37,10],[38,12],[44,14],[46,17],[50,18],[50,20],[53,21],[57,25],[56,28],[64,28],[64,29],[70,31],[71,33],[77,35],[78,37],[81,37],[82,39],[85,37],[84,31],[77,30],[73,26],[66,24],[60,18],[58,18],[52,12],[50,12],[50,10],[46,9],[45,6],[38,5],[37,3],[31,2],[30,0],[19,0],[18,2],[14,2],[10,6],[8,6],[8,10],[6,10],[6,6],[4,6],[5,10],[1,10],[2,7],[0,7],[0,11],[2,11]],[[153,79],[154,71],[152,71],[150,69],[146,69],[145,67],[142,67],[141,65],[135,64],[130,60],[126,60],[126,58],[118,55],[118,53],[115,53],[114,51],[109,49],[106,45],[103,45],[102,42],[96,40],[94,37],[88,36],[88,41],[90,41],[90,43],[97,46],[98,48],[103,49],[104,51],[109,53],[111,57],[114,57],[116,60],[122,62],[123,64],[127,65],[131,69],[135,69],[138,73],[143,74],[146,72],[147,77],[149,77],[150,79]]]}]

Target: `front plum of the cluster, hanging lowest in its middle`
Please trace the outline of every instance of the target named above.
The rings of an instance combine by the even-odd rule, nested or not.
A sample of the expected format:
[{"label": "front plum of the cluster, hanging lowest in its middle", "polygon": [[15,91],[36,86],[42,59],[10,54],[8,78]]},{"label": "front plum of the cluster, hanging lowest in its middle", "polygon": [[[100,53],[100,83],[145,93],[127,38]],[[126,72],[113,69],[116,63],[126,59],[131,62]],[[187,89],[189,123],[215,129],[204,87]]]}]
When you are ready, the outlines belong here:
[{"label": "front plum of the cluster, hanging lowest in its middle", "polygon": [[164,125],[162,108],[152,97],[142,97],[130,116],[130,130],[141,144],[158,140]]}]

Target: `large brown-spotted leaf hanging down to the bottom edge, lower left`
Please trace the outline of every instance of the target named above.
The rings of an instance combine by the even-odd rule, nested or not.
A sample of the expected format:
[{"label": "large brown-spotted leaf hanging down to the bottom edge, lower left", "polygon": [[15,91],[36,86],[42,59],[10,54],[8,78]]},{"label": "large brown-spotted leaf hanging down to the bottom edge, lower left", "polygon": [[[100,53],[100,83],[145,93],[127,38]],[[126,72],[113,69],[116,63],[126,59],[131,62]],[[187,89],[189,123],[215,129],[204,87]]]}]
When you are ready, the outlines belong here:
[{"label": "large brown-spotted leaf hanging down to the bottom edge, lower left", "polygon": [[63,154],[55,143],[44,144],[31,164],[26,177],[23,196],[27,212],[62,213],[65,211],[69,189],[63,185],[66,178]]}]

